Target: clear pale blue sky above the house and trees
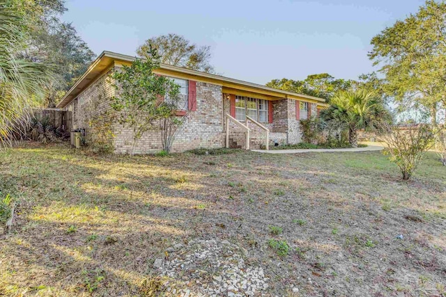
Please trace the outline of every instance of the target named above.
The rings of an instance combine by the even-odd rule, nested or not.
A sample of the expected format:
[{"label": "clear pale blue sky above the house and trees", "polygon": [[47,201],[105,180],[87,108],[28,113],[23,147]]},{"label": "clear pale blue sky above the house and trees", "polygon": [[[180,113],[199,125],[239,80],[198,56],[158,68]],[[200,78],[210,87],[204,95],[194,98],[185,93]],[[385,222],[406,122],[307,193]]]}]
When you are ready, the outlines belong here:
[{"label": "clear pale blue sky above the house and trees", "polygon": [[95,54],[134,56],[147,38],[178,33],[210,45],[227,77],[254,83],[328,72],[373,71],[371,38],[415,13],[423,0],[67,0],[72,22]]}]

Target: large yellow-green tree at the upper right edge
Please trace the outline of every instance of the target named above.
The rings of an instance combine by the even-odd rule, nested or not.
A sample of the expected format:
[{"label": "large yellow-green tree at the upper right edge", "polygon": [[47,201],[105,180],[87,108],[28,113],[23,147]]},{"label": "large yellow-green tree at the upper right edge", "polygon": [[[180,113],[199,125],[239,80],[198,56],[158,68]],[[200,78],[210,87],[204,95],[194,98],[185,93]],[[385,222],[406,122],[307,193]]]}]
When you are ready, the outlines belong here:
[{"label": "large yellow-green tree at the upper right edge", "polygon": [[387,91],[402,105],[423,106],[437,125],[438,109],[446,106],[446,2],[426,1],[371,45],[369,58],[385,74]]}]

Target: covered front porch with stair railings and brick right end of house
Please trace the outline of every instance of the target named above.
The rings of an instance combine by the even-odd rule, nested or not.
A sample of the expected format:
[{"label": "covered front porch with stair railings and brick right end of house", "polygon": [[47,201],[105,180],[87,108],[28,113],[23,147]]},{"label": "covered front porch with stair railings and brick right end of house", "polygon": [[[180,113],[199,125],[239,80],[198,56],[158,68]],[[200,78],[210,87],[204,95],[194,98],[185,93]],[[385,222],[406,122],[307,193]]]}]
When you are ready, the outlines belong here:
[{"label": "covered front porch with stair railings and brick right end of house", "polygon": [[317,116],[323,108],[315,99],[223,90],[226,148],[269,150],[274,145],[300,143],[300,120]]}]

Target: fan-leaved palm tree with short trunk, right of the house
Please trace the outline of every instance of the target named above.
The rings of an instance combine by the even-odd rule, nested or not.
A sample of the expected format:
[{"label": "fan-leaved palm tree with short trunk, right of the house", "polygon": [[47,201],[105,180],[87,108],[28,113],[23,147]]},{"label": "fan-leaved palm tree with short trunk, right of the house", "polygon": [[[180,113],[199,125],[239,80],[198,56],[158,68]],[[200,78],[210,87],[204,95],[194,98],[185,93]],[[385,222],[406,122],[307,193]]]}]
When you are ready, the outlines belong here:
[{"label": "fan-leaved palm tree with short trunk, right of the house", "polygon": [[348,141],[352,147],[357,147],[357,130],[374,129],[379,122],[390,120],[383,100],[366,90],[340,91],[329,104],[321,117],[348,128]]}]

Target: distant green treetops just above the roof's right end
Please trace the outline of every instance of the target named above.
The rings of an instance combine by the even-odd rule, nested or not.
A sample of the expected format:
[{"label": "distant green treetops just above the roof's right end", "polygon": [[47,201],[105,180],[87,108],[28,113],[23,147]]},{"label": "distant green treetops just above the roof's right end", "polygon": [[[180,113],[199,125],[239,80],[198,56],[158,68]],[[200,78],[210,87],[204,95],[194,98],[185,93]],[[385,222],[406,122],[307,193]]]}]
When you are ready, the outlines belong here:
[{"label": "distant green treetops just above the roof's right end", "polygon": [[278,88],[290,92],[320,97],[329,100],[339,90],[351,88],[352,81],[345,79],[334,79],[328,73],[311,74],[303,81],[293,79],[273,79],[266,83],[270,88]]}]

